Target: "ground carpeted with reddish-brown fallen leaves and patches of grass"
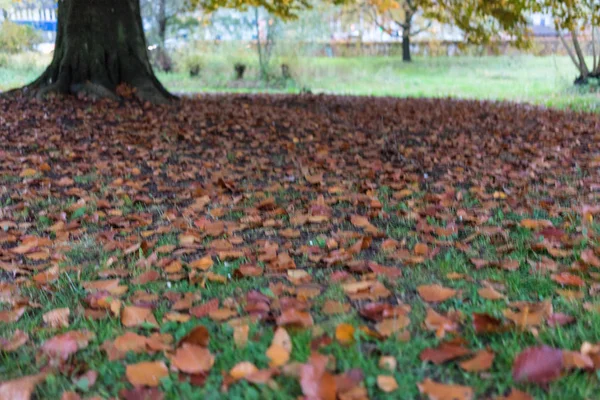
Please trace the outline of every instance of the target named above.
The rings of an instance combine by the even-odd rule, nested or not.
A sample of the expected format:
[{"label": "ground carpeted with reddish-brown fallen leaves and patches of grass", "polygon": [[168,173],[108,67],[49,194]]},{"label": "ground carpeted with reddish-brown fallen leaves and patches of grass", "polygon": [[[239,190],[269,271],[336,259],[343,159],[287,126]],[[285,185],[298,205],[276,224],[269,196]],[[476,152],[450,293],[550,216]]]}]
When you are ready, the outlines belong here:
[{"label": "ground carpeted with reddish-brown fallen leaves and patches of grass", "polygon": [[584,399],[600,118],[0,100],[0,398]]}]

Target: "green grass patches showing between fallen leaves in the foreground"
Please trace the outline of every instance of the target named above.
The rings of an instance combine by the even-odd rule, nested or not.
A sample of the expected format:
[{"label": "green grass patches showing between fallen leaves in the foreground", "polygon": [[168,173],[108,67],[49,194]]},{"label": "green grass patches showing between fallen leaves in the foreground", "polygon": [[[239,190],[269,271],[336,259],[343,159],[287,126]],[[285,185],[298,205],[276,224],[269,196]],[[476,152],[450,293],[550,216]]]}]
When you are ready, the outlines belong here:
[{"label": "green grass patches showing between fallen leaves in the foreground", "polygon": [[[385,204],[385,193],[380,195],[380,199]],[[38,204],[42,207],[44,204]],[[342,208],[344,205],[337,205]],[[54,202],[50,207],[60,207]],[[39,208],[34,210],[41,211]],[[392,211],[392,210],[387,210]],[[534,216],[543,215],[542,212],[534,212]],[[522,216],[499,215],[490,220],[491,225],[502,225],[508,220],[518,221]],[[434,222],[434,221],[432,221]],[[557,225],[562,221],[555,219]],[[403,232],[405,236],[407,227],[411,223],[404,219],[392,218],[390,220],[375,220],[374,223],[388,232]],[[316,233],[310,233],[311,240],[317,240]],[[540,341],[548,345],[554,345],[563,349],[577,350],[582,341],[599,342],[600,341],[600,315],[589,314],[585,312],[580,302],[571,302],[558,296],[555,293],[557,285],[546,275],[532,274],[527,267],[527,260],[537,260],[539,255],[530,250],[532,234],[523,228],[511,230],[510,242],[514,245],[514,250],[510,257],[519,260],[521,268],[514,272],[503,271],[494,268],[484,268],[474,271],[465,254],[455,250],[445,250],[435,259],[427,261],[424,264],[414,267],[404,267],[404,276],[399,279],[380,278],[385,285],[393,291],[394,296],[400,301],[412,306],[411,320],[409,327],[411,340],[409,342],[400,342],[390,338],[386,340],[374,340],[363,334],[356,334],[356,341],[350,346],[341,345],[333,342],[325,346],[321,352],[335,357],[337,370],[348,371],[352,368],[360,368],[365,375],[365,385],[371,398],[377,399],[414,399],[418,397],[417,383],[425,378],[443,380],[445,383],[458,383],[471,386],[477,398],[491,394],[502,394],[515,386],[512,381],[510,370],[512,362],[520,349],[528,345],[535,345]],[[157,245],[175,244],[177,239],[174,235],[162,235],[158,238]],[[581,246],[585,246],[585,243]],[[574,249],[572,257],[563,260],[568,264],[576,259],[579,248]],[[473,243],[473,253],[479,254],[486,259],[495,258],[495,246],[487,238],[480,238]],[[85,290],[81,287],[79,281],[93,280],[97,277],[98,264],[102,265],[110,255],[118,256],[116,253],[107,253],[93,240],[83,238],[78,242],[72,243],[72,250],[66,253],[67,259],[62,265],[79,265],[81,275],[76,272],[63,274],[58,282],[52,285],[52,291],[46,288],[36,288],[34,286],[24,288],[23,294],[28,296],[31,301],[41,305],[41,309],[31,310],[15,324],[0,324],[0,337],[7,337],[15,329],[21,329],[29,332],[32,342],[35,344],[25,345],[14,353],[0,353],[0,376],[3,378],[16,378],[19,376],[34,374],[42,365],[36,358],[36,348],[44,340],[54,336],[58,331],[44,328],[41,316],[44,312],[59,307],[68,307],[71,309],[71,326],[67,330],[90,330],[96,334],[96,339],[84,350],[79,351],[73,356],[72,364],[79,366],[82,370],[86,368],[93,369],[99,373],[98,381],[91,389],[85,385],[76,385],[67,374],[55,373],[50,375],[44,384],[38,386],[36,394],[38,398],[59,398],[67,390],[77,390],[85,394],[100,395],[103,397],[116,396],[118,391],[128,387],[128,384],[122,379],[125,371],[125,364],[137,363],[147,360],[162,360],[163,356],[158,354],[128,354],[125,360],[112,361],[106,360],[104,353],[100,349],[105,340],[112,340],[116,336],[123,334],[127,329],[123,328],[117,318],[106,318],[99,321],[85,319],[79,307],[86,297]],[[385,259],[385,255],[380,254],[377,258]],[[133,272],[133,275],[141,273],[135,267],[137,256],[132,255],[127,258],[126,267]],[[231,272],[237,263],[218,262],[212,270],[216,273],[227,274]],[[335,327],[342,322],[352,324],[356,328],[365,325],[355,310],[347,314],[326,316],[318,310],[320,305],[326,299],[337,301],[346,301],[345,294],[337,284],[331,284],[328,281],[328,274],[322,270],[311,269],[308,272],[313,276],[317,283],[325,285],[325,290],[314,299],[313,317],[315,323],[325,330],[325,332],[334,332]],[[461,273],[470,276],[473,281],[450,280],[447,278],[449,273]],[[501,317],[502,310],[506,308],[507,302],[489,301],[481,298],[477,294],[477,289],[482,280],[503,282],[506,287],[506,296],[510,301],[540,301],[542,299],[552,299],[555,312],[564,312],[577,317],[577,322],[564,328],[542,327],[539,330],[539,338],[534,337],[529,332],[519,332],[513,330],[503,334],[481,335],[476,334],[473,329],[469,329],[471,314],[473,312],[485,312],[491,315]],[[131,295],[136,291],[145,291],[155,293],[162,297],[167,291],[191,292],[199,291],[203,301],[212,298],[221,300],[228,297],[236,297],[255,288],[266,288],[269,279],[265,277],[248,278],[239,281],[230,281],[227,285],[209,283],[205,288],[198,289],[187,281],[174,282],[168,285],[165,281],[157,281],[145,285],[130,284],[128,293],[123,298],[125,304],[130,302]],[[462,291],[460,298],[455,298],[444,302],[436,307],[438,311],[447,312],[450,310],[460,310],[466,319],[463,337],[467,341],[471,350],[489,348],[497,354],[492,369],[487,374],[465,373],[455,363],[444,365],[433,365],[419,360],[421,351],[428,347],[435,347],[440,341],[435,338],[433,332],[428,332],[422,328],[422,322],[426,313],[426,304],[416,296],[416,288],[421,284],[440,283],[446,287],[452,287]],[[586,300],[592,299],[586,294]],[[164,301],[159,301],[154,315],[157,320],[161,320],[164,313],[169,311],[169,306]],[[272,329],[265,324],[256,324],[251,327],[248,346],[244,349],[237,349],[232,345],[232,329],[226,324],[211,321],[209,318],[192,318],[186,323],[165,322],[160,326],[161,333],[172,334],[175,340],[183,337],[189,330],[198,324],[205,325],[211,335],[210,350],[216,355],[216,363],[208,376],[206,384],[202,387],[194,387],[188,382],[179,382],[176,374],[172,373],[161,383],[161,389],[165,392],[168,399],[219,399],[225,396],[220,392],[222,382],[221,372],[229,371],[236,363],[240,361],[251,361],[259,368],[268,366],[268,359],[265,352],[271,342]],[[129,329],[132,330],[132,329]],[[133,329],[140,334],[149,335],[152,330],[147,328]],[[290,331],[293,340],[292,361],[306,362],[310,355],[310,343],[312,340],[311,332]],[[378,365],[381,355],[394,357],[399,368],[392,371],[397,382],[402,388],[393,394],[386,395],[381,392],[376,384],[376,377],[380,374],[390,374],[389,371],[382,369]],[[251,385],[241,381],[233,384],[226,397],[229,399],[293,399],[300,393],[301,389],[298,381],[293,378],[280,376],[276,378],[276,387],[269,385]],[[549,386],[546,392],[540,387],[534,385],[520,385],[522,389],[527,390],[535,398],[547,399],[583,399],[593,398],[599,390],[597,379],[590,378],[584,373],[570,373],[564,378],[556,381]]]}]

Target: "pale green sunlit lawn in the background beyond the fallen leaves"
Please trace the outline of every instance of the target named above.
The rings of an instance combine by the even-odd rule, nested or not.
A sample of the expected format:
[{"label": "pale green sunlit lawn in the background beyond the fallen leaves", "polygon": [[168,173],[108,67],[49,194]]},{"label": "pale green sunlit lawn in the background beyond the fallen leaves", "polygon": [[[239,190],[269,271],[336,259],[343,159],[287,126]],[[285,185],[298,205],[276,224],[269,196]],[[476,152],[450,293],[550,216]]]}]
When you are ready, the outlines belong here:
[{"label": "pale green sunlit lawn in the background beyond the fallen leaves", "polygon": [[[200,77],[185,71],[159,73],[176,93],[330,93],[393,97],[453,97],[509,100],[554,108],[598,111],[597,85],[574,87],[575,69],[566,56],[417,57],[406,64],[398,57],[294,57],[273,61],[274,74],[282,62],[291,65],[293,81],[257,81],[256,60],[243,53],[249,66],[244,81],[233,79],[235,55],[208,54]],[[19,87],[43,71],[43,58],[20,57],[0,67],[0,90]]]}]

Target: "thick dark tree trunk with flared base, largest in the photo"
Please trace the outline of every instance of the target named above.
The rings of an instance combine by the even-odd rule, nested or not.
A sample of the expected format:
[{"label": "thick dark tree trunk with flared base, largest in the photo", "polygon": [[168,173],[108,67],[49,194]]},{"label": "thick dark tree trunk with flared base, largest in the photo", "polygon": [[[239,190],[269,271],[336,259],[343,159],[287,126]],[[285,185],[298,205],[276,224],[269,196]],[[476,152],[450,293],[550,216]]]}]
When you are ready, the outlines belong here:
[{"label": "thick dark tree trunk with flared base, largest in the photo", "polygon": [[121,84],[142,100],[174,98],[150,66],[139,0],[60,0],[54,58],[24,91],[116,98]]}]

